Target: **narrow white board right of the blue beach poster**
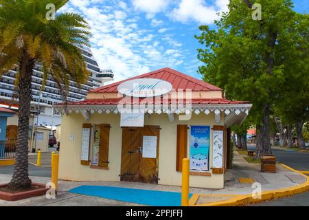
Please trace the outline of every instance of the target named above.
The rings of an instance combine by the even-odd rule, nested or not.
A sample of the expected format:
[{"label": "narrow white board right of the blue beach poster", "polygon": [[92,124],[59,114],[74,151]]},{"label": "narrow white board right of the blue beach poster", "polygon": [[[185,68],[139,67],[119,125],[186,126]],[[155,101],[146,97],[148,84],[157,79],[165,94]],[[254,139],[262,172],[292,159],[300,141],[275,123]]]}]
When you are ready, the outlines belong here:
[{"label": "narrow white board right of the blue beach poster", "polygon": [[214,131],[212,167],[223,167],[223,131]]}]

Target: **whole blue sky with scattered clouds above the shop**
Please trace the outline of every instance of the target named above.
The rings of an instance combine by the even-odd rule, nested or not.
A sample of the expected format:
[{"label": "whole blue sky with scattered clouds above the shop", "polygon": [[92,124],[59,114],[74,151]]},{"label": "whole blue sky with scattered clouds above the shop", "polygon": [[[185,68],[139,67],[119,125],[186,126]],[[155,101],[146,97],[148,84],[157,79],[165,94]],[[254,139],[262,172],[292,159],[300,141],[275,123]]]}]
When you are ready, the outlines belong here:
[{"label": "whole blue sky with scattered clouds above the shop", "polygon": [[[78,12],[91,26],[91,47],[100,67],[115,80],[171,67],[201,78],[194,39],[201,24],[213,25],[228,0],[71,0],[62,10]],[[308,12],[308,0],[295,0]]]}]

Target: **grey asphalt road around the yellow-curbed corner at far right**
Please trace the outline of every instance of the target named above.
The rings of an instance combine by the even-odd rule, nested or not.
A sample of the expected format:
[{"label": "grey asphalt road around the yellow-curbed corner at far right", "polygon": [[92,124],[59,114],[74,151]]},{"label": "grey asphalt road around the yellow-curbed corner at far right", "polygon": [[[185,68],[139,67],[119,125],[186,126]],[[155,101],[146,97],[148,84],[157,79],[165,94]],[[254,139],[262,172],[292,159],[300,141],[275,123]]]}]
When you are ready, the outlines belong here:
[{"label": "grey asphalt road around the yellow-curbed corner at far right", "polygon": [[[248,148],[253,151],[255,150],[255,146],[248,146]],[[273,155],[277,157],[279,162],[295,168],[295,170],[309,170],[309,153],[273,149]],[[309,206],[309,192],[294,195],[293,197],[258,203],[254,206]]]}]

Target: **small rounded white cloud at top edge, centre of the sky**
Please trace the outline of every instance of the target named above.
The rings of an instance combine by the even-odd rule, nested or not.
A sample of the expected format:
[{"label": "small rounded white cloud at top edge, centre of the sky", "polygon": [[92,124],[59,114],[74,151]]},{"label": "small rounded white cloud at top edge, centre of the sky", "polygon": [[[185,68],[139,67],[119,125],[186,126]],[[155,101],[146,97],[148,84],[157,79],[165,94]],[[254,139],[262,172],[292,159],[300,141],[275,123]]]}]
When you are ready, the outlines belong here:
[{"label": "small rounded white cloud at top edge, centre of the sky", "polygon": [[149,14],[155,14],[157,12],[161,12],[168,7],[170,1],[168,0],[133,0],[133,6],[137,10],[141,10],[143,12]]}]

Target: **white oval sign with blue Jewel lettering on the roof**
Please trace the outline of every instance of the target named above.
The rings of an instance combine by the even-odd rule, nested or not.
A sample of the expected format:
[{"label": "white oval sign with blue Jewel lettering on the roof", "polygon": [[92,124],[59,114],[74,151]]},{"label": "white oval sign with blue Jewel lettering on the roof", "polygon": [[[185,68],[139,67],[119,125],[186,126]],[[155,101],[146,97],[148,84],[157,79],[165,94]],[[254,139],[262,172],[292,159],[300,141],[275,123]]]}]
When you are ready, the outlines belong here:
[{"label": "white oval sign with blue Jewel lettering on the roof", "polygon": [[141,98],[161,96],[169,93],[172,88],[172,84],[157,78],[128,80],[117,87],[120,94]]}]

